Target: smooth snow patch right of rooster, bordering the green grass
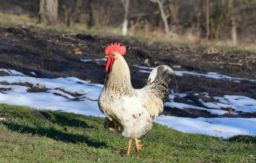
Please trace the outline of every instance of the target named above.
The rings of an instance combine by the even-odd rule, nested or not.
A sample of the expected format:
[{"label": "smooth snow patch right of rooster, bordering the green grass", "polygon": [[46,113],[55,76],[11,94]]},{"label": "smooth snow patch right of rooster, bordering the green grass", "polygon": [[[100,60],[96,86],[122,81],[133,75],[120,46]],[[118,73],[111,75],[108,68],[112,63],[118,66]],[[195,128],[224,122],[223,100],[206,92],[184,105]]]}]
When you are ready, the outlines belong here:
[{"label": "smooth snow patch right of rooster, bordering the green grass", "polygon": [[160,115],[155,122],[181,132],[223,138],[235,135],[256,135],[256,118],[183,118]]}]

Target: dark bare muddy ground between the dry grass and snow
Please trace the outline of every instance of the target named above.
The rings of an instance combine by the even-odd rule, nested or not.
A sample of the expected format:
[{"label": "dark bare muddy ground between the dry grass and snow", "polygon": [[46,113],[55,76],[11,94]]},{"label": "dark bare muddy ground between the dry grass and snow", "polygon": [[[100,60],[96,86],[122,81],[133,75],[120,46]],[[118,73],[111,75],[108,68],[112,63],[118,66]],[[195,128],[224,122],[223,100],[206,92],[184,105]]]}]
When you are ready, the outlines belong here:
[{"label": "dark bare muddy ground between the dry grass and snow", "polygon": [[[41,78],[57,78],[73,76],[92,83],[104,83],[107,72],[105,61],[93,59],[104,58],[106,45],[111,42],[121,42],[128,51],[124,56],[131,71],[134,88],[143,87],[149,74],[139,72],[139,67],[151,67],[164,64],[174,70],[194,71],[198,73],[218,72],[228,76],[256,79],[256,53],[246,51],[219,52],[206,48],[191,49],[175,45],[160,46],[148,45],[123,37],[101,37],[96,35],[72,34],[67,32],[46,31],[38,28],[5,28],[0,27],[0,68],[14,69],[28,76],[34,71]],[[214,49],[213,49],[214,50]],[[80,59],[92,59],[82,62]],[[224,63],[239,63],[231,65]],[[0,72],[0,76],[9,75]],[[186,93],[184,98],[175,98],[182,102],[202,107],[199,98],[203,101],[214,101],[213,96],[239,95],[256,99],[256,82],[241,80],[233,82],[228,79],[212,79],[204,76],[183,75],[177,76],[178,93]],[[6,84],[6,83],[0,83]],[[45,91],[39,88],[31,91]],[[170,89],[175,90],[175,82]],[[211,98],[195,93],[207,92]],[[74,95],[73,95],[74,96]],[[187,101],[187,100],[192,100]],[[202,110],[180,110],[165,107],[165,114],[197,118],[216,117]],[[256,117],[256,114],[224,115],[226,117]]]}]

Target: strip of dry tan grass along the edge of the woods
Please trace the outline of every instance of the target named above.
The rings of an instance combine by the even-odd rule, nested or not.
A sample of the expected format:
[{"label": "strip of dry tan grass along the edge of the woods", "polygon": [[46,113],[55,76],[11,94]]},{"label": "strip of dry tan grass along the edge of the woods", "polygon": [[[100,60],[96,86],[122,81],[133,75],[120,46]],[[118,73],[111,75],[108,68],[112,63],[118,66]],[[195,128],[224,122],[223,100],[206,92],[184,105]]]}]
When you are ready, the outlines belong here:
[{"label": "strip of dry tan grass along the edge of the woods", "polygon": [[[100,11],[99,11],[100,12]],[[103,12],[103,11],[102,11]],[[94,13],[96,15],[100,13]],[[110,11],[106,11],[105,15],[111,14]],[[97,16],[99,18],[99,16]],[[98,26],[88,29],[85,23],[74,24],[72,27],[66,27],[64,23],[59,23],[55,26],[48,26],[44,23],[38,24],[35,18],[30,18],[29,15],[12,15],[0,13],[0,25],[1,26],[12,26],[12,27],[37,27],[44,29],[54,29],[57,31],[68,31],[74,33],[87,33],[87,34],[98,34],[103,36],[118,35],[121,36],[121,28],[108,27],[108,19],[102,21],[100,18],[97,20]],[[180,27],[182,28],[182,27]],[[204,47],[205,49],[209,46],[217,47],[222,51],[250,51],[256,52],[256,45],[253,43],[241,42],[238,40],[238,45],[233,46],[231,40],[205,40],[199,39],[198,32],[193,26],[187,29],[184,34],[181,34],[179,28],[173,29],[173,33],[170,37],[166,37],[164,31],[160,28],[155,28],[154,31],[149,29],[148,22],[140,21],[132,23],[131,28],[128,30],[127,39],[137,39],[137,41],[147,42],[148,44],[159,43],[160,45],[177,44],[179,45],[192,45],[194,47]],[[204,50],[205,50],[204,49]]]}]

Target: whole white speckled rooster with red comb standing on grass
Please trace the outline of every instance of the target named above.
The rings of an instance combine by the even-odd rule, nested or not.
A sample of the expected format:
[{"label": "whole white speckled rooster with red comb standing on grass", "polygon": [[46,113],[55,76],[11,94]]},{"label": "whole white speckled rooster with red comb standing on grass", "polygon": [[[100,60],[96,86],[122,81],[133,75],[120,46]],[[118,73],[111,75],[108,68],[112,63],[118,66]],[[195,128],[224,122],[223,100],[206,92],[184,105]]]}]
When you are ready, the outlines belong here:
[{"label": "whole white speckled rooster with red comb standing on grass", "polygon": [[171,67],[160,65],[149,75],[148,84],[135,90],[131,85],[129,67],[122,55],[126,47],[111,43],[105,49],[107,59],[105,84],[99,95],[99,110],[113,121],[115,130],[128,139],[127,155],[131,154],[132,139],[135,141],[135,151],[140,152],[138,138],[152,127],[152,118],[163,111],[163,103],[169,101],[169,83],[172,74]]}]

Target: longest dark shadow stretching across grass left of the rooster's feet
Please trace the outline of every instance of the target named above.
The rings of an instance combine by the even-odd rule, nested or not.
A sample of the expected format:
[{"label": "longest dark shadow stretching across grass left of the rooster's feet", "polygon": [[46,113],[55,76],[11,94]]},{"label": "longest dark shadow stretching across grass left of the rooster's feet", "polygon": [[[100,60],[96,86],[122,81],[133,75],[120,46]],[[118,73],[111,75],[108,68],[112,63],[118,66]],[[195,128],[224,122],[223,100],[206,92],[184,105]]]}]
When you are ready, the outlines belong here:
[{"label": "longest dark shadow stretching across grass left of the rooster's feet", "polygon": [[15,132],[41,135],[56,141],[62,141],[64,143],[86,143],[87,146],[93,146],[95,148],[108,147],[105,142],[88,140],[85,134],[67,133],[61,130],[57,130],[54,125],[49,128],[40,126],[38,128],[32,128],[30,126],[20,125],[15,122],[3,122],[3,124],[6,126],[6,128]]}]

